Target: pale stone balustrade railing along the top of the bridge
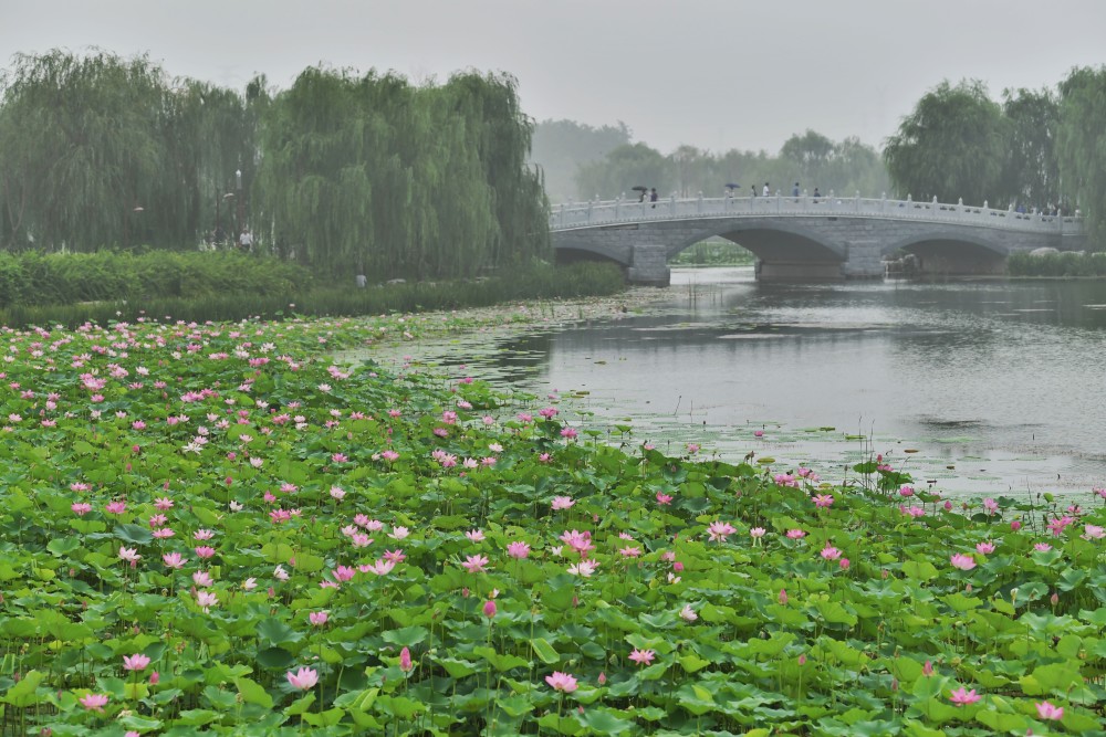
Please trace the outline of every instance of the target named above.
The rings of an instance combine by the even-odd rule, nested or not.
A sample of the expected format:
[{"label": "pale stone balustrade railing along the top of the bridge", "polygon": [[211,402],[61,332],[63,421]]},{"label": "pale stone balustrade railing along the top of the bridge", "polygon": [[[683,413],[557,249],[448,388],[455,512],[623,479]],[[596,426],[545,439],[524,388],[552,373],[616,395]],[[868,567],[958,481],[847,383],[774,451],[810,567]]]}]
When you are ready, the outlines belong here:
[{"label": "pale stone balustrade railing along the top of the bridge", "polygon": [[796,218],[856,215],[890,220],[920,220],[950,222],[1008,230],[1042,233],[1078,233],[1079,218],[1047,215],[1040,212],[1022,213],[1012,209],[999,210],[984,202],[982,207],[957,202],[889,200],[887,198],[841,197],[813,194],[770,197],[669,197],[656,202],[638,200],[595,200],[554,206],[550,214],[550,230],[593,228],[619,223],[640,223],[656,220],[688,220],[718,218],[758,218],[791,215]]}]

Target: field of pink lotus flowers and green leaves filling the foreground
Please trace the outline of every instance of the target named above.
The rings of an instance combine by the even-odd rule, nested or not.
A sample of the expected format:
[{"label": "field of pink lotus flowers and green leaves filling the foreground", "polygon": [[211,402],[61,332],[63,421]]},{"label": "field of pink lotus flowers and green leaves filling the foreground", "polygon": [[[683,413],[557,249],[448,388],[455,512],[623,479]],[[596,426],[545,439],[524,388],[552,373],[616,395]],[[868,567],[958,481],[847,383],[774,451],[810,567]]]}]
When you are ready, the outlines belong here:
[{"label": "field of pink lotus flowers and green leaves filling the foreground", "polygon": [[1106,492],[332,360],[403,320],[3,333],[3,734],[1106,735]]}]

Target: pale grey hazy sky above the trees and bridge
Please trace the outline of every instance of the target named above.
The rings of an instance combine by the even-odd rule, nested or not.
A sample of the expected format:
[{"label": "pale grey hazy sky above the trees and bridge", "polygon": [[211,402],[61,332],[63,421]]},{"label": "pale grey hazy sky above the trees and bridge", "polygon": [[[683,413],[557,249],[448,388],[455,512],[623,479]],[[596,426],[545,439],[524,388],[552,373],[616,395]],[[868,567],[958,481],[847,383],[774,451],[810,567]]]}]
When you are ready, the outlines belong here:
[{"label": "pale grey hazy sky above the trees and bridge", "polygon": [[998,99],[1104,64],[1106,1],[0,0],[3,67],[90,46],[239,90],[320,63],[505,71],[539,120],[623,120],[666,154],[774,154],[807,128],[879,146],[945,78]]}]

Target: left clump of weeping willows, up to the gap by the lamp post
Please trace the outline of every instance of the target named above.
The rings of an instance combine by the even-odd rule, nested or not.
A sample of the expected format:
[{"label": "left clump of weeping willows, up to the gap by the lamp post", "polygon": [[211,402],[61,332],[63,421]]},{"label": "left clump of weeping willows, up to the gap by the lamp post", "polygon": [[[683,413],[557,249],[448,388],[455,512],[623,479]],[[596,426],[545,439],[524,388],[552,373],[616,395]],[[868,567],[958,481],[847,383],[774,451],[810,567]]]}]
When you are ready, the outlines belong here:
[{"label": "left clump of weeping willows, up to the gap by the lamp post", "polygon": [[195,245],[220,188],[253,170],[248,102],[146,56],[17,55],[0,97],[0,244]]}]

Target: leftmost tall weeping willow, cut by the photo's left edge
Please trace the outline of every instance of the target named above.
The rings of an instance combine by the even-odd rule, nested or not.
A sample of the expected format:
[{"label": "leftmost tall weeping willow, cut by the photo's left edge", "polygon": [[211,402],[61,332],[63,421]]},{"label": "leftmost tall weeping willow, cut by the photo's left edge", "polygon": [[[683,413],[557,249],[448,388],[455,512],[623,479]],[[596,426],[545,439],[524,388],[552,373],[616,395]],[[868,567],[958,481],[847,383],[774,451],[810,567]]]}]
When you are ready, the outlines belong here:
[{"label": "leftmost tall weeping willow, cut by the photo's left edge", "polygon": [[9,248],[88,250],[149,227],[167,173],[166,84],[145,56],[17,55],[0,108],[0,197]]}]

